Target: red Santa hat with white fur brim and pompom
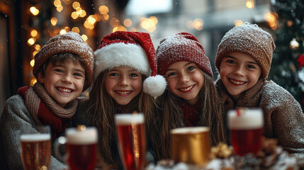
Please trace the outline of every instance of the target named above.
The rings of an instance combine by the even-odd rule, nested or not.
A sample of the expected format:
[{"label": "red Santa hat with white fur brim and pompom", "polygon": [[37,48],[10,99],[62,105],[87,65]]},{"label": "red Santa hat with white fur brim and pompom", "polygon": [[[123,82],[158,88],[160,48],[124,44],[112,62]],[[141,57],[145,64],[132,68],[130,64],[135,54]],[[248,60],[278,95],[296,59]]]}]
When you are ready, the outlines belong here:
[{"label": "red Santa hat with white fur brim and pompom", "polygon": [[160,96],[166,89],[166,80],[157,75],[155,49],[148,33],[116,31],[106,35],[94,52],[94,80],[106,69],[127,66],[147,76],[143,91]]}]

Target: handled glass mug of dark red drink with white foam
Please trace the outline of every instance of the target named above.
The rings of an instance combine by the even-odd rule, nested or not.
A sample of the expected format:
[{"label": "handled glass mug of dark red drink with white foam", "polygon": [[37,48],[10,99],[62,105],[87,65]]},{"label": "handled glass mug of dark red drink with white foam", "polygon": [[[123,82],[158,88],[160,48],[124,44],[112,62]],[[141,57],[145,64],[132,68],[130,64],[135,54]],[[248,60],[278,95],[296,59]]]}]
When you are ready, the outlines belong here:
[{"label": "handled glass mug of dark red drink with white foam", "polygon": [[[57,159],[66,162],[70,170],[93,170],[97,162],[98,131],[95,127],[79,125],[67,128],[65,137],[55,140]],[[66,147],[66,153],[60,154],[60,147]]]}]

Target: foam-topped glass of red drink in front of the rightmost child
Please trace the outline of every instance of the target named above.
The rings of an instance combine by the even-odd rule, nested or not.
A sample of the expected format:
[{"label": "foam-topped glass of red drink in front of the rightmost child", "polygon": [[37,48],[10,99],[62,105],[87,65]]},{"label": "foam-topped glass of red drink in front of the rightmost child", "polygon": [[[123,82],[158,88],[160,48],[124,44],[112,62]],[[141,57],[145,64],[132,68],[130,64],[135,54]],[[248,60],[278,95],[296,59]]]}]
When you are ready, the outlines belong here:
[{"label": "foam-topped glass of red drink in front of the rightmost child", "polygon": [[257,154],[261,149],[264,117],[260,108],[238,108],[227,113],[230,140],[235,153]]}]

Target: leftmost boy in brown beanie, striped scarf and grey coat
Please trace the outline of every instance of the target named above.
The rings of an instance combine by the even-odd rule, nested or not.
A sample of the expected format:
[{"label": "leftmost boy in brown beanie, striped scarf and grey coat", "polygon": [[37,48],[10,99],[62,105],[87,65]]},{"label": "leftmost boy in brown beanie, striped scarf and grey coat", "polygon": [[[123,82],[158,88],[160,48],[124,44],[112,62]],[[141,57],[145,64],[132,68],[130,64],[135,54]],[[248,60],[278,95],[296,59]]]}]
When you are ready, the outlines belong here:
[{"label": "leftmost boy in brown beanie, striped scarf and grey coat", "polygon": [[[36,125],[49,125],[52,141],[71,125],[80,94],[91,86],[94,53],[77,33],[50,38],[35,55],[33,75],[38,81],[11,96],[1,114],[1,144],[11,169],[23,169],[19,138],[21,129],[35,132]],[[2,152],[1,152],[2,153]],[[34,160],[32,160],[34,161]],[[51,157],[48,169],[66,166]]]}]

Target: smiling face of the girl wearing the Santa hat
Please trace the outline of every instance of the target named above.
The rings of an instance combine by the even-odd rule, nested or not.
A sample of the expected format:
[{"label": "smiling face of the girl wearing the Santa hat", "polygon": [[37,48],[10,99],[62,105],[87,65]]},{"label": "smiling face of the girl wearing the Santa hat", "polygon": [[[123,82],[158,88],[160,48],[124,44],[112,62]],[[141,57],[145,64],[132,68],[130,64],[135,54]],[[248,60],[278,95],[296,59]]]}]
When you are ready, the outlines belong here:
[{"label": "smiling face of the girl wearing the Santa hat", "polygon": [[142,90],[142,74],[130,67],[115,67],[106,74],[106,91],[119,105],[127,105]]}]

